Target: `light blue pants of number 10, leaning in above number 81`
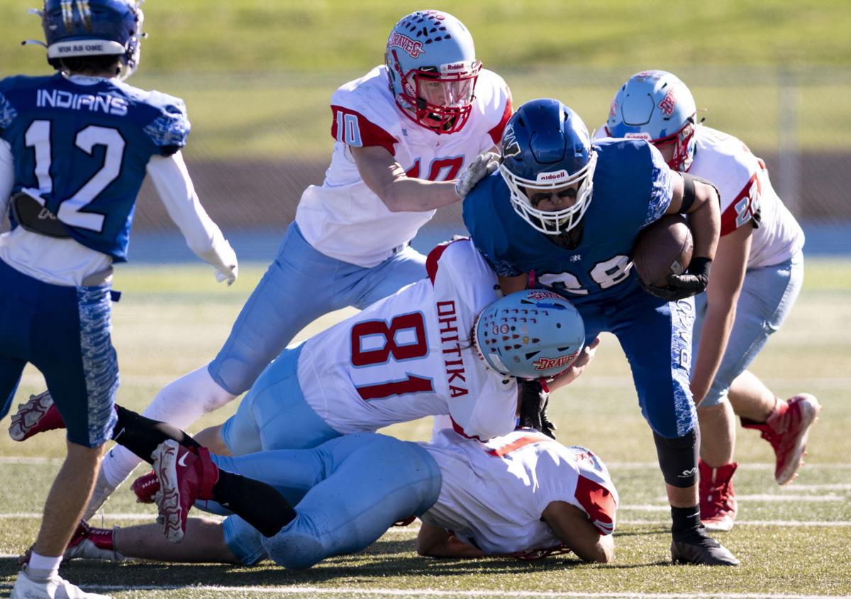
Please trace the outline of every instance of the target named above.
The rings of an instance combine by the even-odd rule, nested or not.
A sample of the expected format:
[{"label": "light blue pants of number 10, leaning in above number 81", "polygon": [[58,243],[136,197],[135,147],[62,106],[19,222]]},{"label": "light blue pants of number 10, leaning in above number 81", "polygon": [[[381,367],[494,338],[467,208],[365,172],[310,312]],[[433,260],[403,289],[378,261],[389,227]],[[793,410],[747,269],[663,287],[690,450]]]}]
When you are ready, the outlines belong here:
[{"label": "light blue pants of number 10, leaning in above number 81", "polygon": [[363,268],[317,251],[293,222],[231,336],[210,363],[210,376],[228,393],[240,395],[319,316],[347,306],[366,308],[424,278],[426,256],[410,246],[378,266]]}]

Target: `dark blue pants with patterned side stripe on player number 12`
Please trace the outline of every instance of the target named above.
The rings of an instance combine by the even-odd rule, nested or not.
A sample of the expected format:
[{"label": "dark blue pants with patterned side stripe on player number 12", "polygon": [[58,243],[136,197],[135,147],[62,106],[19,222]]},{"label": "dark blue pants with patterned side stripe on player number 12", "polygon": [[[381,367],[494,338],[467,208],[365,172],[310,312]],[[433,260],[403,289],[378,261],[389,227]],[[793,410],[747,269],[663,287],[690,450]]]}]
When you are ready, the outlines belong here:
[{"label": "dark blue pants with patterned side stripe on player number 12", "polygon": [[0,418],[29,362],[44,376],[68,441],[97,447],[111,438],[118,363],[110,286],[49,285],[0,261]]}]

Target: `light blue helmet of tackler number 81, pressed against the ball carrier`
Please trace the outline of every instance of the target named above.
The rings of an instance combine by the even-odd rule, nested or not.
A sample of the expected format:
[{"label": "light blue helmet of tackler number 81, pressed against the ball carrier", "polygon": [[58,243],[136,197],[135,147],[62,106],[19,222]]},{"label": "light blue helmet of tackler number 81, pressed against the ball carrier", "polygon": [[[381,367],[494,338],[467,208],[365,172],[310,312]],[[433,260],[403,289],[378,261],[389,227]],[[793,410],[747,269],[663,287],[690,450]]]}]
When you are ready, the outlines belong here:
[{"label": "light blue helmet of tackler number 81, pressed against the ball carrier", "polygon": [[490,304],[474,332],[485,363],[520,378],[556,376],[585,344],[585,324],[574,305],[542,289],[517,291]]}]

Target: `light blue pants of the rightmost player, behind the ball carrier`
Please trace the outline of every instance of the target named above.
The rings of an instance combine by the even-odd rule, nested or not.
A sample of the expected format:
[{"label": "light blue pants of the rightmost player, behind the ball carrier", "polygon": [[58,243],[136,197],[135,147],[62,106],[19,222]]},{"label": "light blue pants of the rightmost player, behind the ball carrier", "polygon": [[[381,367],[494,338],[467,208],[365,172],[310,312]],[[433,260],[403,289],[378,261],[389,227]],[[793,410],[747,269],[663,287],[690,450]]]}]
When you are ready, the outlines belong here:
[{"label": "light blue pants of the rightmost player, behind the ball carrier", "polygon": [[[727,349],[709,392],[700,407],[717,406],[727,399],[730,385],[744,372],[780,329],[803,285],[803,255],[774,266],[754,268],[745,273],[745,281],[736,302],[736,316]],[[694,357],[697,358],[700,331],[706,314],[706,294],[694,298]]]}]

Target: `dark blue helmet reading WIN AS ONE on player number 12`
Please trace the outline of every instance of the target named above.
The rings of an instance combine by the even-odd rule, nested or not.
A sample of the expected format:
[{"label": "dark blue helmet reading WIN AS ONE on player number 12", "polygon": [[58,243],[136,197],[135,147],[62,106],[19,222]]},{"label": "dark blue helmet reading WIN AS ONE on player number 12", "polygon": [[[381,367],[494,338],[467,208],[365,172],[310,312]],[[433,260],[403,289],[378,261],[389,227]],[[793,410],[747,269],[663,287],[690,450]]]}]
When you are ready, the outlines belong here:
[{"label": "dark blue helmet reading WIN AS ONE on player number 12", "polygon": [[144,15],[135,0],[44,0],[38,12],[54,68],[66,57],[118,55],[126,79],[139,66]]}]

